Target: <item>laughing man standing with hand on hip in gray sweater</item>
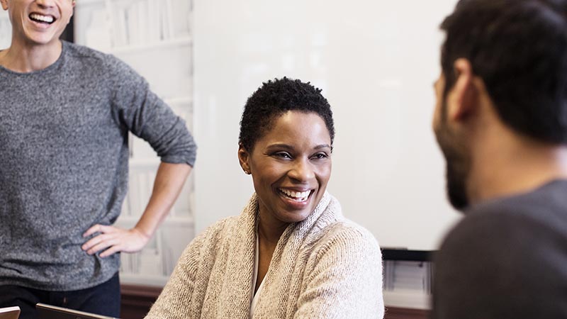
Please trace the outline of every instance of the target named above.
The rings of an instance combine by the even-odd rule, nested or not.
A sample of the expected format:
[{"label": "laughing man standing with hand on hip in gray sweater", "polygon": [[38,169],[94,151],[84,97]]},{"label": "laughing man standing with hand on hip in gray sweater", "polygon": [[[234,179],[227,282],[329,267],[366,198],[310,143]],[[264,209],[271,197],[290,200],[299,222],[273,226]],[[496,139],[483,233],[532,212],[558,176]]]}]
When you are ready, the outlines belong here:
[{"label": "laughing man standing with hand on hip in gray sweater", "polygon": [[[119,316],[119,252],[142,249],[191,172],[196,145],[133,69],[59,40],[74,0],[0,0],[0,307],[35,303]],[[162,163],[134,228],[115,228],[128,132]]]}]

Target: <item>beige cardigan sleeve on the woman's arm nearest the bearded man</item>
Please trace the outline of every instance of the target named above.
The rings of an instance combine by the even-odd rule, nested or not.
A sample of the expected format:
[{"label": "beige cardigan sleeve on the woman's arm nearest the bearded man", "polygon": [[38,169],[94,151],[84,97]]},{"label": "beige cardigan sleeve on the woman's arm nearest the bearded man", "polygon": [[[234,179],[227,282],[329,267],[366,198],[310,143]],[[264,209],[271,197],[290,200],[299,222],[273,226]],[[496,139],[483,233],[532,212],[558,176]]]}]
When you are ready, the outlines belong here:
[{"label": "beige cardigan sleeve on the woman's arm nearest the bearded man", "polygon": [[323,238],[294,318],[383,318],[382,262],[367,230],[339,224]]}]

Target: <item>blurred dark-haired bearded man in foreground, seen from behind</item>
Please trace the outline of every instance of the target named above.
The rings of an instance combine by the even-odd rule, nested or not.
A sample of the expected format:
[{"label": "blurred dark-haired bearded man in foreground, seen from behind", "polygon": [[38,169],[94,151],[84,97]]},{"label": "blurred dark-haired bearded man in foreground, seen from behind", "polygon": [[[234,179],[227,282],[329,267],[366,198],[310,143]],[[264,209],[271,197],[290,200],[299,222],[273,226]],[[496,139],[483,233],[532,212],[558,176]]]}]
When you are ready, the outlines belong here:
[{"label": "blurred dark-haired bearded man in foreground, seen from behind", "polygon": [[567,318],[567,1],[461,0],[442,29],[433,126],[466,216],[432,318]]}]

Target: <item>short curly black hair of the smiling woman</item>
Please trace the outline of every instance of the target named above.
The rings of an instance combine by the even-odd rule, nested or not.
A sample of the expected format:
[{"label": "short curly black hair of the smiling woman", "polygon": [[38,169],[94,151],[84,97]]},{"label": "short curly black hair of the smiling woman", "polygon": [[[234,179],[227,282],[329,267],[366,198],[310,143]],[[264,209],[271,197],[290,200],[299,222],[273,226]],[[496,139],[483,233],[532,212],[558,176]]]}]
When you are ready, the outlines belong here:
[{"label": "short curly black hair of the smiling woman", "polygon": [[274,120],[287,111],[317,113],[329,130],[331,146],[335,140],[335,125],[329,102],[310,82],[298,79],[274,79],[264,82],[246,101],[240,120],[238,142],[252,152],[254,144],[271,129]]}]

